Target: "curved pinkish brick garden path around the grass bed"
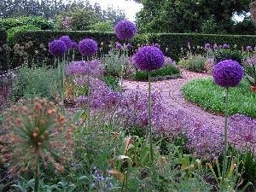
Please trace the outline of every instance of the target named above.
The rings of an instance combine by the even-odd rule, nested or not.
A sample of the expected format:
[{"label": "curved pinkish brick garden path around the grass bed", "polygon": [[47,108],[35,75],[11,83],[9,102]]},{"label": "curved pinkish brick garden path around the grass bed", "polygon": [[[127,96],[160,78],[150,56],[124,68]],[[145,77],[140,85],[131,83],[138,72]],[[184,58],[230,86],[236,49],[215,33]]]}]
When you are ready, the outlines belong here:
[{"label": "curved pinkish brick garden path around the grass bed", "polygon": [[[205,119],[211,125],[217,126],[219,128],[224,128],[224,117],[218,116],[212,113],[208,113],[195,104],[185,101],[180,88],[183,84],[199,78],[210,77],[211,74],[207,73],[194,73],[181,69],[182,78],[178,79],[167,79],[151,82],[152,92],[160,93],[163,102],[166,104],[167,108],[171,110],[181,109],[185,113],[198,118]],[[124,90],[143,90],[148,91],[148,82],[137,82],[131,80],[124,80],[123,83]]]}]

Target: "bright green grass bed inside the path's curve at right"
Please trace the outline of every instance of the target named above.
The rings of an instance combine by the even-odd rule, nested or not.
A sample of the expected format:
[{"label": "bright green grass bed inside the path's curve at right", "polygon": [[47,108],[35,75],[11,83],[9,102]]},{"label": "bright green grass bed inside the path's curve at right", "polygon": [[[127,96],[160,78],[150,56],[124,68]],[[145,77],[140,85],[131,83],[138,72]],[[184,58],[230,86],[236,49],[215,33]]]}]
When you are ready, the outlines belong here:
[{"label": "bright green grass bed inside the path's curve at right", "polygon": [[[181,88],[183,96],[201,108],[212,113],[224,114],[224,90],[214,84],[212,78],[195,79]],[[240,113],[256,117],[256,95],[242,80],[234,89],[230,89],[229,115]]]}]

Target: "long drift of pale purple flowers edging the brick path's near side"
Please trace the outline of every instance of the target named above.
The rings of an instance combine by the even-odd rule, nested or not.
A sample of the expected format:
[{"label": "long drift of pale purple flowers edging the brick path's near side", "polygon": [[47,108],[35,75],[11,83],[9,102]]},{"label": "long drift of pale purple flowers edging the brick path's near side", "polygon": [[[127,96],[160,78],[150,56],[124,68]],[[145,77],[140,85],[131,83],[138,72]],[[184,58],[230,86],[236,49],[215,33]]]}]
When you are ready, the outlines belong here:
[{"label": "long drift of pale purple flowers edging the brick path's near side", "polygon": [[[117,116],[123,117],[122,123],[126,128],[134,125],[147,127],[147,94],[137,90],[125,91]],[[171,139],[185,134],[189,138],[187,148],[195,156],[211,159],[223,151],[221,129],[209,125],[203,119],[195,119],[182,110],[168,110],[156,93],[152,94],[152,129],[154,135],[166,133]]]}]

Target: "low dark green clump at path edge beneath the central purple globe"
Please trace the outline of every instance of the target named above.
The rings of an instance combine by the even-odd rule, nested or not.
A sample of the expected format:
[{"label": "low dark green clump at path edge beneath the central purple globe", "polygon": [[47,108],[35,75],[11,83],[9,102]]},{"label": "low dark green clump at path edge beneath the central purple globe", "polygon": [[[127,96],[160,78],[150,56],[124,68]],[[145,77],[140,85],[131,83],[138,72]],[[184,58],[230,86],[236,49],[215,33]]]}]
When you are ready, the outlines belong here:
[{"label": "low dark green clump at path edge beneath the central purple globe", "polygon": [[[178,77],[181,77],[180,70],[174,66],[166,66],[150,73],[151,80],[174,79]],[[148,72],[137,71],[134,75],[134,79],[138,81],[148,80]]]}]

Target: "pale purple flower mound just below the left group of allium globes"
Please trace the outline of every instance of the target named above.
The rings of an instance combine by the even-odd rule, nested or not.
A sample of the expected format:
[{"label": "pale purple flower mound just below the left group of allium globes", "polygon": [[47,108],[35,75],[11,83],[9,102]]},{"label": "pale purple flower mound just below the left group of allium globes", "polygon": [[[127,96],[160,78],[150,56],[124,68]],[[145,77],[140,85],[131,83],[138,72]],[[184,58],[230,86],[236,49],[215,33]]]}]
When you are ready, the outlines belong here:
[{"label": "pale purple flower mound just below the left group of allium globes", "polygon": [[85,76],[88,74],[88,65],[89,65],[89,74],[91,77],[99,78],[104,74],[104,67],[100,60],[92,61],[73,61],[67,68],[66,73],[69,76]]}]

